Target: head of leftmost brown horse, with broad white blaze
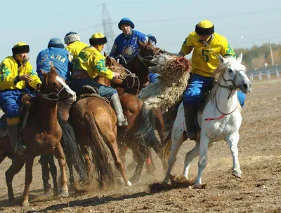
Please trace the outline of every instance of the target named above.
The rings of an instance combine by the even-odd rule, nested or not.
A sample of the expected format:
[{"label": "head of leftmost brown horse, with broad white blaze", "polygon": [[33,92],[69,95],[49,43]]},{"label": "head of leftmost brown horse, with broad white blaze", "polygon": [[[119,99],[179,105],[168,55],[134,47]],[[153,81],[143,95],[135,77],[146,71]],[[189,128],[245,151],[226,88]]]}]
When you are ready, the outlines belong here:
[{"label": "head of leftmost brown horse, with broad white blaze", "polygon": [[69,104],[75,102],[76,93],[57,74],[54,67],[48,73],[42,71],[42,74],[41,97],[51,102],[58,102],[58,99],[65,99]]}]

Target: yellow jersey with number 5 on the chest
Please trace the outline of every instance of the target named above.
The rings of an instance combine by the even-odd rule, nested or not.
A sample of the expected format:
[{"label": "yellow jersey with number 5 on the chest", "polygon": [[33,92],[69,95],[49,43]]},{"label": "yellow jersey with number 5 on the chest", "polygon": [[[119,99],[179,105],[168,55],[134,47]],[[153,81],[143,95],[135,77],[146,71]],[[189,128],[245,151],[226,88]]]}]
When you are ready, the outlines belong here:
[{"label": "yellow jersey with number 5 on the chest", "polygon": [[[236,57],[233,48],[229,45],[226,38],[216,32],[212,34],[207,43],[216,55]],[[209,47],[200,41],[196,32],[190,33],[181,46],[181,52],[184,55],[188,55],[192,50],[192,74],[211,77],[219,65],[219,60]]]}]

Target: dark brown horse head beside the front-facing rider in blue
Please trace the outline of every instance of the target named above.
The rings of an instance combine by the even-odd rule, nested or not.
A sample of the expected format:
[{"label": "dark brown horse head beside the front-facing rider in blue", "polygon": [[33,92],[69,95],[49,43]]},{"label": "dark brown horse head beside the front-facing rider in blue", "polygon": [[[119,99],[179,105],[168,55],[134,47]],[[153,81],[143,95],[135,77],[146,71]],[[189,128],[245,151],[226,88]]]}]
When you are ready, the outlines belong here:
[{"label": "dark brown horse head beside the front-facing rider in blue", "polygon": [[141,43],[138,57],[135,60],[133,72],[138,76],[141,84],[149,83],[149,69],[155,64],[151,60],[155,59],[156,55],[164,53],[162,48],[155,47],[150,41],[148,43]]}]

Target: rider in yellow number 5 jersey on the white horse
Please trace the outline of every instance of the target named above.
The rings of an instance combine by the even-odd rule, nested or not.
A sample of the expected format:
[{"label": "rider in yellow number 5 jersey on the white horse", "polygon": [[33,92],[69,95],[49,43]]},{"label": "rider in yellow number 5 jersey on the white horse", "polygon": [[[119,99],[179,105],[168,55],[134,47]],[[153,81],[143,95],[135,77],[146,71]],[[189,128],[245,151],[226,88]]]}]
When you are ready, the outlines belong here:
[{"label": "rider in yellow number 5 jersey on the white horse", "polygon": [[188,88],[183,92],[183,106],[187,137],[195,139],[197,105],[204,91],[213,85],[212,74],[219,64],[216,55],[221,54],[223,57],[236,55],[226,38],[214,32],[214,25],[209,20],[203,20],[196,25],[195,32],[188,35],[178,54],[185,56],[192,50],[192,78]]}]

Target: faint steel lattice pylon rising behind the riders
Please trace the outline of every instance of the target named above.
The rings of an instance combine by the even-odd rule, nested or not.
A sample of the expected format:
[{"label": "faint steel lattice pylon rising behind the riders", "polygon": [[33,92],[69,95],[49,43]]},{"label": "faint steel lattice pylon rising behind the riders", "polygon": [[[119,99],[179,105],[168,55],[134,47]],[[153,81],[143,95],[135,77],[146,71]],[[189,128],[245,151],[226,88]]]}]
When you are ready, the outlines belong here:
[{"label": "faint steel lattice pylon rising behind the riders", "polygon": [[107,53],[109,54],[114,43],[115,33],[112,28],[112,19],[110,18],[110,13],[108,13],[105,4],[103,4],[103,30],[107,38],[107,43],[105,45]]}]

